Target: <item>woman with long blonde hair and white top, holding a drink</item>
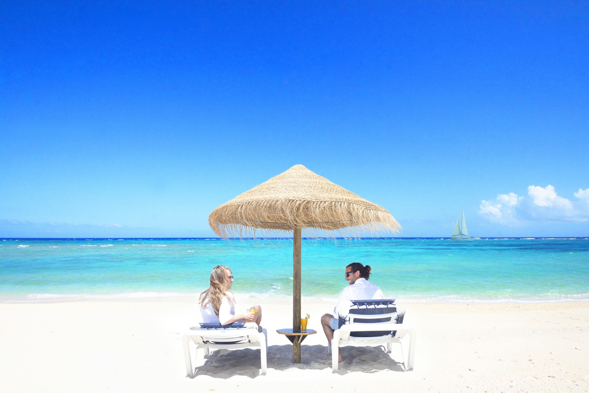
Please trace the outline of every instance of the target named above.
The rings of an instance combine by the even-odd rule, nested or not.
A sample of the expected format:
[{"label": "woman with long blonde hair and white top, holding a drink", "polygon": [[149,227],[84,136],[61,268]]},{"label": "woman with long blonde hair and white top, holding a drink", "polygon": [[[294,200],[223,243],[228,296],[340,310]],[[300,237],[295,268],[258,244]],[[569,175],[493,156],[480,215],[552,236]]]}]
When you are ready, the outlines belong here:
[{"label": "woman with long blonde hair and white top, holding a drink", "polygon": [[233,322],[256,322],[258,331],[262,332],[262,307],[255,305],[257,312],[235,314],[235,299],[229,291],[233,284],[233,274],[229,267],[219,265],[211,271],[211,285],[200,294],[200,314],[203,322],[229,325]]}]

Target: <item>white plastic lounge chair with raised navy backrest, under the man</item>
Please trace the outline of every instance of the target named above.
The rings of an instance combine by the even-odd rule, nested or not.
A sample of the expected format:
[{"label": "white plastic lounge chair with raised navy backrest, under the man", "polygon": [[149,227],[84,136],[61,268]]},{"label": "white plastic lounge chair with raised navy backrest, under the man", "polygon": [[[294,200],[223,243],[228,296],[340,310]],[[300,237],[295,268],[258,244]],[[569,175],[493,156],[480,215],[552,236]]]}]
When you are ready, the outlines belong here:
[{"label": "white plastic lounge chair with raised navy backrest, under the man", "polygon": [[[337,353],[345,345],[385,345],[386,353],[392,351],[393,342],[401,344],[403,363],[406,370],[413,369],[417,330],[409,325],[397,323],[398,314],[395,299],[352,300],[345,324],[333,332],[333,340],[327,345],[332,352],[332,369],[337,371]],[[358,318],[358,317],[362,318]],[[402,322],[402,321],[399,321]],[[408,342],[407,342],[408,341]]]}]

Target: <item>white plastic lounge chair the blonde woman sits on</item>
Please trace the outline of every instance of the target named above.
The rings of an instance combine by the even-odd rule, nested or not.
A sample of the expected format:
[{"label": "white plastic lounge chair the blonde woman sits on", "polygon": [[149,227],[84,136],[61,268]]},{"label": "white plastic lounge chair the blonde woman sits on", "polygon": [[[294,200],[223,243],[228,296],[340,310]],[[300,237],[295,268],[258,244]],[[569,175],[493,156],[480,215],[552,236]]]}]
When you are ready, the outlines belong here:
[{"label": "white plastic lounge chair the blonde woman sits on", "polygon": [[268,334],[266,329],[262,333],[257,331],[257,325],[253,322],[234,323],[223,327],[221,324],[200,324],[200,327],[192,327],[182,337],[184,347],[184,361],[186,362],[186,374],[193,377],[196,372],[192,367],[190,357],[190,341],[196,344],[196,352],[204,348],[204,355],[209,355],[211,349],[242,349],[260,348],[262,358],[262,372],[266,374],[266,356],[268,354]]}]

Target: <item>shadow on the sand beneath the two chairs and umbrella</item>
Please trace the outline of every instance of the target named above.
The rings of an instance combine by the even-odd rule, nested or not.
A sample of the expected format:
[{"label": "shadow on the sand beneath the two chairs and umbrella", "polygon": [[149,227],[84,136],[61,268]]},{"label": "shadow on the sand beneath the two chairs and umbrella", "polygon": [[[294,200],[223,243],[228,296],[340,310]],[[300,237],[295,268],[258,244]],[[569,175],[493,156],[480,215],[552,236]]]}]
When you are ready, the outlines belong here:
[{"label": "shadow on the sand beneath the two chairs and umbrella", "polygon": [[[381,370],[402,371],[402,363],[391,359],[385,348],[379,347],[342,347],[344,361],[340,363],[337,374],[348,372],[377,372]],[[292,345],[270,345],[268,347],[267,365],[275,370],[287,369],[325,369],[331,368],[331,354],[327,354],[325,345],[303,345],[300,364],[292,363]],[[196,367],[195,374],[209,375],[214,378],[227,379],[234,375],[256,378],[260,375],[260,349],[237,349],[228,351],[217,349],[205,357],[203,365]]]}]

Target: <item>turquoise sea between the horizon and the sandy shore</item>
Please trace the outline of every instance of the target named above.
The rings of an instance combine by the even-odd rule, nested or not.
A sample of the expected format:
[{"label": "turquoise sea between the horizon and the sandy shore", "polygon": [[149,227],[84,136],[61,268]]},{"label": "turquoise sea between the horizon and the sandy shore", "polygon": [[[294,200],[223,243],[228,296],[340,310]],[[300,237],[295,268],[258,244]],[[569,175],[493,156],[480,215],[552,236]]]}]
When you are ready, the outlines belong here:
[{"label": "turquoise sea between the horizon and the sandy shore", "polygon": [[[351,262],[406,301],[589,300],[589,239],[303,239],[302,294],[332,299]],[[292,241],[280,239],[2,239],[0,302],[194,295],[211,268],[233,291],[292,295]]]}]

